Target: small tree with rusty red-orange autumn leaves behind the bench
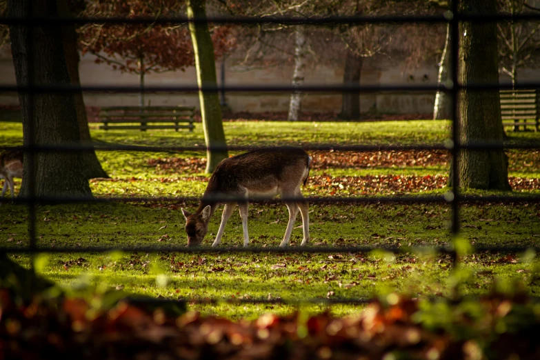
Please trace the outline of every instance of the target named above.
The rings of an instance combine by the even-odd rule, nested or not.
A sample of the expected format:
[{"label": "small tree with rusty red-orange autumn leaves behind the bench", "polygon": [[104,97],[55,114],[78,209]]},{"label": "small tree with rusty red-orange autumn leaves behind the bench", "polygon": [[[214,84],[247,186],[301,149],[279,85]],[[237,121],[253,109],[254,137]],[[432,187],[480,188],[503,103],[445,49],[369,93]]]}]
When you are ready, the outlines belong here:
[{"label": "small tree with rusty red-orange autumn leaves behind the bench", "polygon": [[[85,17],[175,17],[184,14],[183,1],[95,0],[81,12]],[[234,40],[226,26],[212,28],[215,57],[219,58]],[[83,54],[96,56],[114,70],[139,75],[139,105],[144,106],[146,74],[185,70],[194,66],[194,52],[188,24],[88,23],[79,29]]]}]

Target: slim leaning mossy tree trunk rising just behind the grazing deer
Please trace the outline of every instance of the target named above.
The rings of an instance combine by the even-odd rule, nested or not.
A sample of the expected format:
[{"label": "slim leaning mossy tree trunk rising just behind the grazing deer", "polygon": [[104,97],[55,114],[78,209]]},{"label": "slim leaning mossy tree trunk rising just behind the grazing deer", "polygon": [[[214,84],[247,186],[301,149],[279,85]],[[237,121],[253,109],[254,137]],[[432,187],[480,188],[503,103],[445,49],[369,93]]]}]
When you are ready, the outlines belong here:
[{"label": "slim leaning mossy tree trunk rising just behind the grazing deer", "polygon": [[[188,18],[205,19],[205,0],[188,0]],[[197,70],[197,83],[199,89],[203,86],[217,87],[216,64],[214,45],[208,30],[208,23],[190,22],[190,33],[195,54],[195,67]],[[223,131],[221,119],[221,106],[217,92],[203,92],[199,90],[201,103],[201,117],[203,118],[204,140],[206,142],[206,172],[211,173],[221,160],[228,158],[226,150],[227,141]],[[210,147],[220,147],[211,150]]]}]

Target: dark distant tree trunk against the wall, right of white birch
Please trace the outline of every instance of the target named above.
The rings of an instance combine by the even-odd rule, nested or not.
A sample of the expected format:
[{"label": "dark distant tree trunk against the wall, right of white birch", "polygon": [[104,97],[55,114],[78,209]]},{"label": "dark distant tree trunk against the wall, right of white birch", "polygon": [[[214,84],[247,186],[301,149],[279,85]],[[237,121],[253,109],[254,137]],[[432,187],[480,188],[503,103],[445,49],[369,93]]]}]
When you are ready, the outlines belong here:
[{"label": "dark distant tree trunk against the wall, right of white birch", "polygon": [[[345,70],[343,72],[344,86],[359,86],[362,71],[363,58],[348,51],[345,59]],[[360,94],[359,92],[343,92],[341,95],[340,119],[357,120],[360,119]]]}]

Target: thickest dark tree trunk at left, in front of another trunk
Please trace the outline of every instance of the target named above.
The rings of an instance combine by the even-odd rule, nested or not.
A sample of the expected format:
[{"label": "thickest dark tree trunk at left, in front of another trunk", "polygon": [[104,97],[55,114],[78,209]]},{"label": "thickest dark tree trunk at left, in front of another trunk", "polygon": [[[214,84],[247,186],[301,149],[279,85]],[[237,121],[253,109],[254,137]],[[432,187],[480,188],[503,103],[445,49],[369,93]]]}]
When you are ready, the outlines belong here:
[{"label": "thickest dark tree trunk at left, in front of another trunk", "polygon": [[[58,16],[56,0],[9,0],[8,8],[12,17],[28,17],[29,14]],[[18,86],[67,85],[71,82],[60,27],[12,25],[10,38]],[[22,91],[19,92],[19,101],[25,146],[77,146],[81,143],[77,108],[71,92],[29,94]],[[26,153],[19,195],[91,195],[83,172],[85,166],[81,152],[39,152],[33,157]]]}]

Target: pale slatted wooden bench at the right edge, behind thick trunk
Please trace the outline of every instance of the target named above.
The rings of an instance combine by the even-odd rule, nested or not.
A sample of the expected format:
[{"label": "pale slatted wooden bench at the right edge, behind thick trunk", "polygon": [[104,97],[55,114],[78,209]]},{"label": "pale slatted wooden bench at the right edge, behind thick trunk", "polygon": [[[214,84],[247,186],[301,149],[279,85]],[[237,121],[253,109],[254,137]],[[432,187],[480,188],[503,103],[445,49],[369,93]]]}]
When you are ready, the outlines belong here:
[{"label": "pale slatted wooden bench at the right edge, behind thick trunk", "polygon": [[533,126],[534,131],[540,127],[540,96],[537,90],[501,90],[501,116],[503,125],[514,126],[514,131],[523,131]]}]

